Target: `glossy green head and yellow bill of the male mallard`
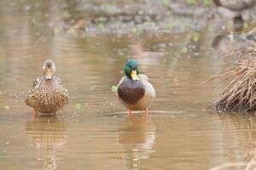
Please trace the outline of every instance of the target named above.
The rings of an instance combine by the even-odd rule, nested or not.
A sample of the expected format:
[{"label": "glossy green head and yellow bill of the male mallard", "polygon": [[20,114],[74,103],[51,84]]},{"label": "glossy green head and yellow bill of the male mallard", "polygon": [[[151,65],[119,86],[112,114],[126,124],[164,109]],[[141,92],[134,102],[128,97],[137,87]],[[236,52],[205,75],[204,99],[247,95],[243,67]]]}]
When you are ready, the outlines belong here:
[{"label": "glossy green head and yellow bill of the male mallard", "polygon": [[125,75],[126,77],[131,78],[133,81],[137,81],[139,70],[137,68],[137,62],[134,59],[129,59],[125,64]]}]

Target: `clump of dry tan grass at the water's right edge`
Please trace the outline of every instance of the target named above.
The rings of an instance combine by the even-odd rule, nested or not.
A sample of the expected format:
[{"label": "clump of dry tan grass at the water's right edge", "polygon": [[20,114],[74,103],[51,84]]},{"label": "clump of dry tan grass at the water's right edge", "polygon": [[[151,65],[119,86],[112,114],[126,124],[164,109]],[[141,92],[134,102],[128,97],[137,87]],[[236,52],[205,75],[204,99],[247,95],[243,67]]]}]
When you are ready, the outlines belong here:
[{"label": "clump of dry tan grass at the water's right edge", "polygon": [[224,84],[213,105],[218,111],[256,111],[256,48],[242,48],[236,54],[241,59],[213,78]]}]

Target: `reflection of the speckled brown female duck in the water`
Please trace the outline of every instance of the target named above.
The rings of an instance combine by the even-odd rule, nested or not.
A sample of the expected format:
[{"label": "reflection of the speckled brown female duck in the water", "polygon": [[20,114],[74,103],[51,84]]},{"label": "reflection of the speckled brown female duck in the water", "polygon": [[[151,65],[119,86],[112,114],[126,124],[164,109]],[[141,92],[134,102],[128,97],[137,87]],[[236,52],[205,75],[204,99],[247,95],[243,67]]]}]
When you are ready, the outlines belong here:
[{"label": "reflection of the speckled brown female duck in the water", "polygon": [[44,159],[44,169],[57,168],[57,151],[61,150],[68,139],[68,124],[56,116],[38,116],[26,122],[26,134],[38,148],[40,159]]}]

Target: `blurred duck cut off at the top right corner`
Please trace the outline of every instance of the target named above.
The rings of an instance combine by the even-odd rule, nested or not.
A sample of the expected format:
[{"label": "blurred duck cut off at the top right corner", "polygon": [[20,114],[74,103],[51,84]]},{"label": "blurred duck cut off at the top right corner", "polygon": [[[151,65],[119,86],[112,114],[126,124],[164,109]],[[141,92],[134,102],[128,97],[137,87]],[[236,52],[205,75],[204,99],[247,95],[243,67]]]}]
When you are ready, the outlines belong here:
[{"label": "blurred duck cut off at the top right corner", "polygon": [[241,12],[247,8],[252,8],[255,0],[213,0],[218,6],[225,8],[222,13],[233,18],[235,31],[241,31],[243,28],[243,19]]}]

